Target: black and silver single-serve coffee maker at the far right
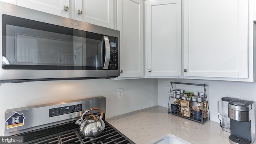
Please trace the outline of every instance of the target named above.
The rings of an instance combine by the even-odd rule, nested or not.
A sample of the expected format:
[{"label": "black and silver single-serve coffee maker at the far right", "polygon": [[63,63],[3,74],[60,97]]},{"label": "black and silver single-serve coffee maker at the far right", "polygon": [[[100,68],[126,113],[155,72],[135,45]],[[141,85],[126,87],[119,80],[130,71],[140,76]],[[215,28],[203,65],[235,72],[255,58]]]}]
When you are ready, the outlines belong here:
[{"label": "black and silver single-serve coffee maker at the far right", "polygon": [[252,144],[255,140],[254,102],[233,100],[228,103],[230,144]]}]

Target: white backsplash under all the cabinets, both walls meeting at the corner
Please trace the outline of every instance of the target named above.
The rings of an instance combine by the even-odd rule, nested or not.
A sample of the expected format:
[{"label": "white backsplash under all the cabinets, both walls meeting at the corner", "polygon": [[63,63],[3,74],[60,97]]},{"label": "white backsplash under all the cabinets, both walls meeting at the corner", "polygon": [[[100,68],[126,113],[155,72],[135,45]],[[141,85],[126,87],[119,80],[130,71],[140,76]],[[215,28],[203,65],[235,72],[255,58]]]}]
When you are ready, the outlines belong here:
[{"label": "white backsplash under all the cabinets, both walls meeting at the corner", "polygon": [[[168,107],[166,86],[170,82],[207,84],[210,120],[219,122],[217,101],[222,97],[241,97],[256,102],[255,82],[229,82],[184,79],[134,80],[60,80],[24,83],[5,83],[0,86],[0,136],[4,135],[4,112],[7,109],[47,104],[94,96],[106,97],[106,118],[151,106]],[[117,89],[124,88],[124,98],[118,98]],[[175,84],[174,88],[203,92],[202,86]]]}]

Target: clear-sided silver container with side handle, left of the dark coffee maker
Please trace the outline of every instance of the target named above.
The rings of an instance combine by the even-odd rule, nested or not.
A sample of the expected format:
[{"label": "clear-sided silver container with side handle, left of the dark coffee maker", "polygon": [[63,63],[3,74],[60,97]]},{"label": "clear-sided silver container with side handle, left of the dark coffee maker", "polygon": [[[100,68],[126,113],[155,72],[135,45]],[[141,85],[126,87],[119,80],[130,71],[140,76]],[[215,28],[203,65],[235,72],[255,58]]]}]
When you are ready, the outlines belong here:
[{"label": "clear-sided silver container with side handle, left of the dark coffee maker", "polygon": [[218,100],[218,114],[222,116],[221,126],[222,130],[226,132],[230,132],[230,118],[228,118],[228,103],[232,100],[238,100],[238,98],[222,97],[221,100]]}]

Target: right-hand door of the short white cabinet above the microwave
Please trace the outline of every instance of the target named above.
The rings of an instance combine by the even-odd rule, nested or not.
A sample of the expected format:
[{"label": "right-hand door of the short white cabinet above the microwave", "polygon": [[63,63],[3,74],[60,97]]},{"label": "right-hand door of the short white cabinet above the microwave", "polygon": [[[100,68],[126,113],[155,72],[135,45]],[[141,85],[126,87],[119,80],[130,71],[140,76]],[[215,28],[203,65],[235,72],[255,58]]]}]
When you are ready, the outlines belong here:
[{"label": "right-hand door of the short white cabinet above the microwave", "polygon": [[76,0],[75,18],[114,29],[114,0]]}]

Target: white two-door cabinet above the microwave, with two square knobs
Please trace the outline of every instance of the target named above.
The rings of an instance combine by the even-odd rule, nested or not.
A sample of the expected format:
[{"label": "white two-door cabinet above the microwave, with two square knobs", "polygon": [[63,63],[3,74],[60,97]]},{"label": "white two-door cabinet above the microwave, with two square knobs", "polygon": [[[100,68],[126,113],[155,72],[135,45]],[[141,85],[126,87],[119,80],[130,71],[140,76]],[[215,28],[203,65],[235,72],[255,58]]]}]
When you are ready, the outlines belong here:
[{"label": "white two-door cabinet above the microwave, with two square knobs", "polygon": [[114,29],[114,0],[11,0],[9,3]]}]

